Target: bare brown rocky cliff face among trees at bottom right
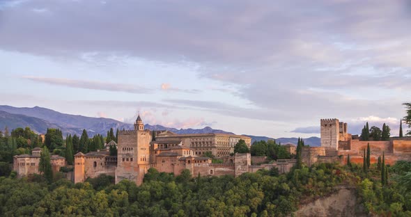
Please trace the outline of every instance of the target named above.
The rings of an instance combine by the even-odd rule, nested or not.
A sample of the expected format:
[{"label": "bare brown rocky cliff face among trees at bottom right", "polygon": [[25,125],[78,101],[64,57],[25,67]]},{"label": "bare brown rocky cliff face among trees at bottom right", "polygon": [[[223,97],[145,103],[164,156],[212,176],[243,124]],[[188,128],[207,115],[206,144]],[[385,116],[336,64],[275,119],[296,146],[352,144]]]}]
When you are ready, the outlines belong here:
[{"label": "bare brown rocky cliff face among trees at bottom right", "polygon": [[357,202],[355,189],[341,188],[336,193],[305,204],[295,216],[366,216]]}]

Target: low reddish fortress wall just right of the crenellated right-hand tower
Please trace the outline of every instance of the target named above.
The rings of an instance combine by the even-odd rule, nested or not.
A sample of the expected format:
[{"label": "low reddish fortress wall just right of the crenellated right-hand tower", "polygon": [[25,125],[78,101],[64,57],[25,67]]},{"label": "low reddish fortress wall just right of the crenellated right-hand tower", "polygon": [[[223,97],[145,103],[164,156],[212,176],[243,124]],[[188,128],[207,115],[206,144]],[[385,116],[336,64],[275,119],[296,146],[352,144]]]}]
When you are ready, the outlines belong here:
[{"label": "low reddish fortress wall just right of the crenellated right-hand tower", "polygon": [[382,155],[382,152],[385,152],[385,154],[392,153],[391,141],[360,141],[355,139],[351,140],[351,150],[363,154],[368,143],[370,144],[371,154]]}]

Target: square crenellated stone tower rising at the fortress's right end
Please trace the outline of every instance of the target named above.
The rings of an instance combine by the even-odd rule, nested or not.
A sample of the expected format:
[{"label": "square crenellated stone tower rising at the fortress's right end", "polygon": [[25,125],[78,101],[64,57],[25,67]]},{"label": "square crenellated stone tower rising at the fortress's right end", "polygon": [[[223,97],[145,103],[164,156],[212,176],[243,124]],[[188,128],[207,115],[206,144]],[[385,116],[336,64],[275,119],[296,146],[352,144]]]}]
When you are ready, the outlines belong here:
[{"label": "square crenellated stone tower rising at the fortress's right end", "polygon": [[339,149],[340,122],[338,119],[321,119],[321,147]]}]

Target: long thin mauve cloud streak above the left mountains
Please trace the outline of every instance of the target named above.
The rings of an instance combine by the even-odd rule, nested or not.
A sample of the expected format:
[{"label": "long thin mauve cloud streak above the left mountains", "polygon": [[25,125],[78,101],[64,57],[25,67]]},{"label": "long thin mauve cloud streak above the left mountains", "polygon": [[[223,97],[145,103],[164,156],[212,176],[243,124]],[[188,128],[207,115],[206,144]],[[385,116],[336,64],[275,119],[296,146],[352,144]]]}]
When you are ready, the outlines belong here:
[{"label": "long thin mauve cloud streak above the left mountains", "polygon": [[60,79],[60,78],[45,78],[45,77],[33,77],[23,76],[22,79],[35,81],[38,83],[47,83],[56,86],[66,86],[70,88],[84,88],[90,90],[107,90],[114,92],[125,93],[151,93],[153,90],[144,88],[137,85],[128,83],[107,83],[100,81],[84,81],[76,79]]}]

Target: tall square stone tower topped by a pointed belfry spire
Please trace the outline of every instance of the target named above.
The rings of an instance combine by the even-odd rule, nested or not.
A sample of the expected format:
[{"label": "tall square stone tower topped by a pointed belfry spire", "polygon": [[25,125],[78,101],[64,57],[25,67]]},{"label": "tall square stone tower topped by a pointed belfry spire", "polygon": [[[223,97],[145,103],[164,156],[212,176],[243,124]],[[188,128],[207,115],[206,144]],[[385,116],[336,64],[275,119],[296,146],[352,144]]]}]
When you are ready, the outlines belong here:
[{"label": "tall square stone tower topped by a pointed belfry spire", "polygon": [[151,132],[139,117],[134,130],[118,132],[116,183],[128,179],[140,185],[150,168]]}]

